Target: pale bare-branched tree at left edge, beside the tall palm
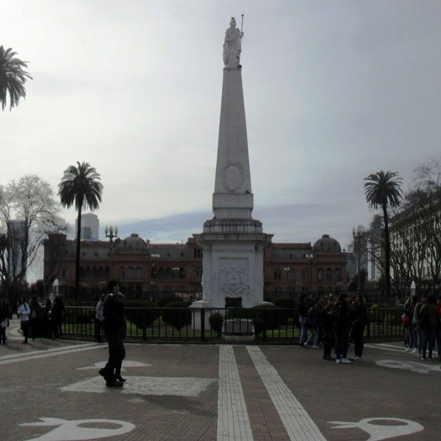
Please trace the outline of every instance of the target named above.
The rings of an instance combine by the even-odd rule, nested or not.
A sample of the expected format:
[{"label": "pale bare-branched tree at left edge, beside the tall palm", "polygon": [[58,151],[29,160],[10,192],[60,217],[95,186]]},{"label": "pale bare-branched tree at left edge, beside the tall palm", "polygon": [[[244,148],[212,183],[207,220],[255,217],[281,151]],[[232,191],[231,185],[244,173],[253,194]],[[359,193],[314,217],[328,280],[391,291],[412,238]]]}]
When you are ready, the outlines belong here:
[{"label": "pale bare-branched tree at left edge, beside the tall palm", "polygon": [[11,296],[23,285],[43,238],[65,230],[59,211],[50,184],[36,174],[0,186],[0,276]]}]

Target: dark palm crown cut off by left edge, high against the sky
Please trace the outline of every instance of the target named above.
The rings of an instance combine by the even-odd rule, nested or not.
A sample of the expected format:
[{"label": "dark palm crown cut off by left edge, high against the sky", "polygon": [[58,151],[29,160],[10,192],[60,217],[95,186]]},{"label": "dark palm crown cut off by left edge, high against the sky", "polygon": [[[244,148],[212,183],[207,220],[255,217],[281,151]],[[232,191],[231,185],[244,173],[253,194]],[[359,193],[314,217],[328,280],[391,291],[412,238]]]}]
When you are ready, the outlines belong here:
[{"label": "dark palm crown cut off by left edge, high against the sky", "polygon": [[14,58],[17,52],[12,52],[12,48],[5,50],[0,46],[0,103],[1,110],[5,110],[6,99],[9,93],[10,109],[19,104],[21,96],[25,98],[26,90],[24,83],[27,78],[32,80],[32,76],[23,68],[28,67],[28,63],[21,59]]}]

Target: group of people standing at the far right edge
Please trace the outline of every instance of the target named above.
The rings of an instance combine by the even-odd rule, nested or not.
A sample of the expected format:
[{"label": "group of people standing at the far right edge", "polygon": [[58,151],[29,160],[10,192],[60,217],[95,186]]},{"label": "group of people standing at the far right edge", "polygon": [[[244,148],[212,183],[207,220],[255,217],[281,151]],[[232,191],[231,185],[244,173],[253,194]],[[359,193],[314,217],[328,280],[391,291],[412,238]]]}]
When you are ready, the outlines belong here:
[{"label": "group of people standing at the far right edge", "polygon": [[409,297],[404,303],[402,322],[404,351],[416,353],[422,360],[433,360],[436,343],[441,360],[441,297],[438,302],[433,294]]}]

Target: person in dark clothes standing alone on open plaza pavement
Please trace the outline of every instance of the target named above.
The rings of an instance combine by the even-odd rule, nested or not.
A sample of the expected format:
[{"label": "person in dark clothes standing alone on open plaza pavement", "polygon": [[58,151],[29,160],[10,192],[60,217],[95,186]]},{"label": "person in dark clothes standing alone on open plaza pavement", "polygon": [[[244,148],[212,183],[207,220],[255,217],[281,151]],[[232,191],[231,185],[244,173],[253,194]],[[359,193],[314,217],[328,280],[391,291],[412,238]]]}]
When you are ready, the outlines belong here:
[{"label": "person in dark clothes standing alone on open plaza pavement", "polygon": [[109,345],[109,359],[99,374],[104,377],[108,387],[123,386],[125,378],[121,377],[121,366],[125,358],[124,332],[125,332],[125,298],[119,291],[116,280],[110,280],[107,284],[107,298],[104,302],[104,334]]}]

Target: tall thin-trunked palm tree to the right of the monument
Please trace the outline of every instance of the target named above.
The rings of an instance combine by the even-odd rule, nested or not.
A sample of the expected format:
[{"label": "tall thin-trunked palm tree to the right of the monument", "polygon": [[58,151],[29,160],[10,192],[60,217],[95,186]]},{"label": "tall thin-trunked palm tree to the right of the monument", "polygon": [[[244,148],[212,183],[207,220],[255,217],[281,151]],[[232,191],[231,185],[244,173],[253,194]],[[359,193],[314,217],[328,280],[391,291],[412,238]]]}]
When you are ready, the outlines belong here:
[{"label": "tall thin-trunked palm tree to the right of the monument", "polygon": [[382,208],[384,220],[384,270],[386,273],[386,292],[391,295],[391,242],[389,239],[389,216],[387,207],[398,207],[402,199],[401,183],[396,172],[382,170],[375,174],[369,174],[365,178],[365,196],[367,203],[373,209]]}]

